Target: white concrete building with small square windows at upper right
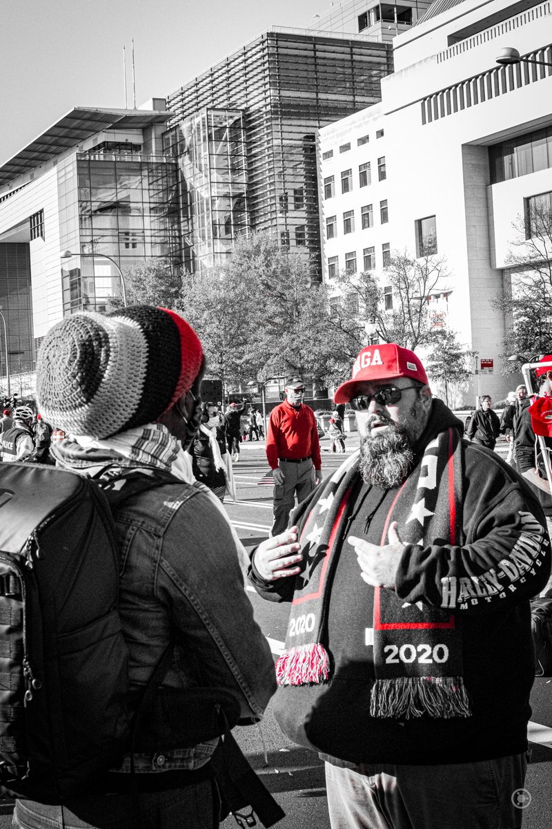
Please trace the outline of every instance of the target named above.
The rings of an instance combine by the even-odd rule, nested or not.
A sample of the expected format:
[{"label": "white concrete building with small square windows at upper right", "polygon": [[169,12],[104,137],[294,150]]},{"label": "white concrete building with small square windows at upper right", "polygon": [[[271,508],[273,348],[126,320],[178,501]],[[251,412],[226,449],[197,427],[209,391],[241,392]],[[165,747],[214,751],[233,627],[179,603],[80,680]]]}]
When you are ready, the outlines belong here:
[{"label": "white concrete building with small square windows at upper right", "polygon": [[[451,277],[435,310],[479,360],[493,361],[493,373],[479,381],[496,400],[511,386],[500,357],[506,321],[492,299],[511,279],[512,225],[534,196],[552,193],[552,67],[500,66],[496,58],[512,46],[552,62],[551,44],[550,2],[435,0],[394,39],[395,72],[382,80],[382,103],[319,130],[324,279],[331,283],[332,268],[347,267],[353,253],[362,269],[373,248],[385,286],[383,246],[415,254],[420,238],[436,233]],[[366,163],[372,184],[361,187]],[[353,187],[343,192],[349,168]],[[334,196],[328,190],[324,198],[331,176]],[[373,225],[362,226],[367,205]],[[354,231],[344,232],[343,214]],[[477,390],[474,378],[464,400]]]}]

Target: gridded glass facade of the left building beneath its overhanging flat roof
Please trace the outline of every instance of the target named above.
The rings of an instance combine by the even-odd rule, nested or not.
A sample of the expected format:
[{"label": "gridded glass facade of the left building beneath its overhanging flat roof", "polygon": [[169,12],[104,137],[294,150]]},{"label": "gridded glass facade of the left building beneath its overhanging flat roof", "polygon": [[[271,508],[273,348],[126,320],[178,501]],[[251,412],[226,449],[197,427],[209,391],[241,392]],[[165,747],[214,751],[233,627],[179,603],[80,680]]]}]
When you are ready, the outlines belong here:
[{"label": "gridded glass facade of the left building beneath its overhanging flat roof", "polygon": [[94,147],[58,167],[60,245],[75,255],[62,264],[64,314],[108,310],[117,266],[183,261],[175,158],[139,149]]}]

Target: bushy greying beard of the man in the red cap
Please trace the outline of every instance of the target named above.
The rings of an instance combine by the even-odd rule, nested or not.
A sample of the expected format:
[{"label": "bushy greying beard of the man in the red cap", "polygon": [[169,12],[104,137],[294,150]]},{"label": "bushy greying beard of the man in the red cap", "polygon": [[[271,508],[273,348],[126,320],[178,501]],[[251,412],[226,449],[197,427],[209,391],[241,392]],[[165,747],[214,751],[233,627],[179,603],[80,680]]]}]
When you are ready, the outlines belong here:
[{"label": "bushy greying beard of the man in the red cap", "polygon": [[372,487],[392,489],[405,480],[413,460],[408,435],[390,423],[384,434],[362,438],[358,471]]}]

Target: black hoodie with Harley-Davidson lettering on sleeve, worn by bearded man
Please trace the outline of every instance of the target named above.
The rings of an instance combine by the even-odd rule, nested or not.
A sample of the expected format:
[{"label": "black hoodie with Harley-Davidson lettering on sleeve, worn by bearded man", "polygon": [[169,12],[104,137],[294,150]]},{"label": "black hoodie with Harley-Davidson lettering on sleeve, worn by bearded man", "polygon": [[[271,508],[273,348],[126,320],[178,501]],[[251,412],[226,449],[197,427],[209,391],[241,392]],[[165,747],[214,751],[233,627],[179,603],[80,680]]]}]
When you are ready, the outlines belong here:
[{"label": "black hoodie with Harley-Davidson lettering on sleeve, worn by bearded man", "polygon": [[[462,424],[440,400],[417,445],[417,461],[443,429]],[[328,486],[328,482],[320,486]],[[347,536],[380,544],[396,489],[369,487],[360,476],[353,492]],[[300,526],[310,499],[292,516]],[[349,499],[351,502],[351,499]],[[524,534],[530,564],[516,544]],[[296,743],[334,764],[451,764],[520,754],[527,748],[529,695],[535,676],[529,599],[550,574],[545,517],[526,482],[497,454],[463,440],[463,545],[406,545],[396,574],[396,594],[405,602],[448,607],[461,623],[463,680],[472,715],[409,720],[374,718],[370,691],[375,680],[372,626],[374,589],[359,578],[353,547],[343,541],[331,585],[328,683],[281,686],[274,711],[281,730]],[[518,545],[519,546],[519,545]],[[473,589],[473,577],[478,589]],[[293,578],[249,578],[263,598],[290,601]],[[405,642],[407,633],[405,633]]]}]

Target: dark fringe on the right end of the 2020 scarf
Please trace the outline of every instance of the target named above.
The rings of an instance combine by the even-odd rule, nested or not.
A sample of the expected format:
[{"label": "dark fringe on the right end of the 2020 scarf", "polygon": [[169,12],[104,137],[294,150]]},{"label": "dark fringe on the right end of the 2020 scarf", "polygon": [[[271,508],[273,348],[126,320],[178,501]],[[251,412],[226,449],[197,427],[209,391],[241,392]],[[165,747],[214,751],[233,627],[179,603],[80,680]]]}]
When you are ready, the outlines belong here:
[{"label": "dark fringe on the right end of the 2020 scarf", "polygon": [[429,714],[449,720],[472,710],[461,676],[400,676],[378,679],[372,687],[372,717],[405,718]]}]

